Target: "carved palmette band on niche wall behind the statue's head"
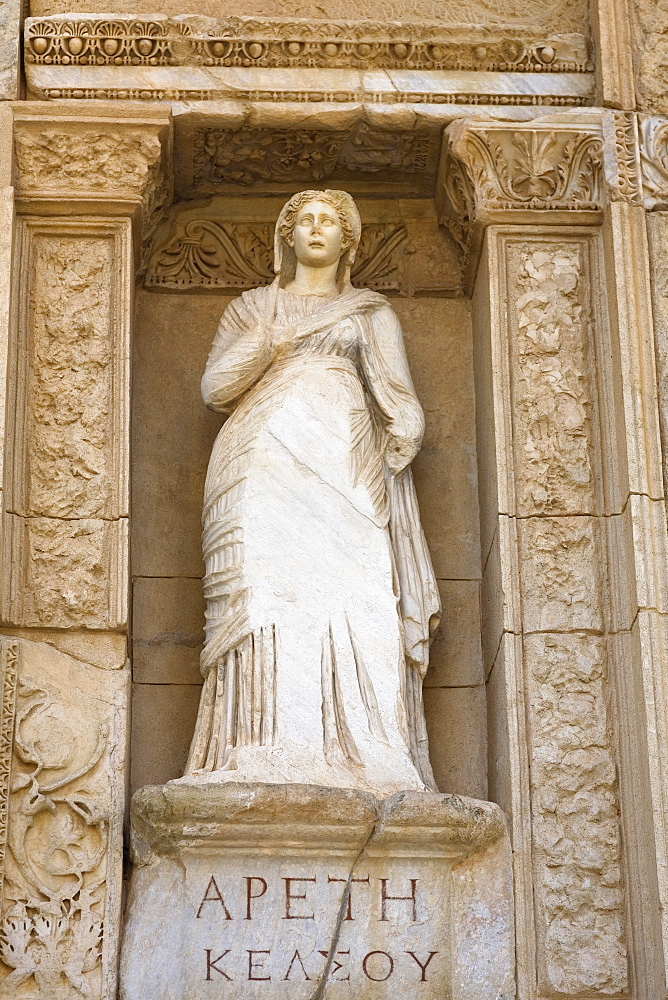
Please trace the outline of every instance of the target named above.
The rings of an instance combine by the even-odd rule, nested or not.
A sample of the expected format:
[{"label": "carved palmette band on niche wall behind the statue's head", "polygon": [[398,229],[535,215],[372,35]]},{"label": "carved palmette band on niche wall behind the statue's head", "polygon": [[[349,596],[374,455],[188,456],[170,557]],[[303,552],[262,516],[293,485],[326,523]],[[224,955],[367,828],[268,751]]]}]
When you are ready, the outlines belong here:
[{"label": "carved palmette band on niche wall behind the statue's head", "polygon": [[[145,283],[150,288],[230,290],[268,285],[274,279],[272,239],[268,224],[191,220],[153,252]],[[352,268],[353,284],[400,291],[408,253],[404,225],[364,226]]]}]

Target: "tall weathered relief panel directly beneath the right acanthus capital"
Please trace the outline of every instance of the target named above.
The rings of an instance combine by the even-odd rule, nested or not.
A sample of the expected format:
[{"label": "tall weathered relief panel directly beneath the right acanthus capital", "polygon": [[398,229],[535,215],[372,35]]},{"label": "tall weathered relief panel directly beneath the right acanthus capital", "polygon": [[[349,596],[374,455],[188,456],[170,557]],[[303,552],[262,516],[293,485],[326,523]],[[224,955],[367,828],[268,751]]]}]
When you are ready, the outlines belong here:
[{"label": "tall weathered relief panel directly beneath the right acanthus capital", "polygon": [[594,513],[582,243],[511,246],[518,513]]}]

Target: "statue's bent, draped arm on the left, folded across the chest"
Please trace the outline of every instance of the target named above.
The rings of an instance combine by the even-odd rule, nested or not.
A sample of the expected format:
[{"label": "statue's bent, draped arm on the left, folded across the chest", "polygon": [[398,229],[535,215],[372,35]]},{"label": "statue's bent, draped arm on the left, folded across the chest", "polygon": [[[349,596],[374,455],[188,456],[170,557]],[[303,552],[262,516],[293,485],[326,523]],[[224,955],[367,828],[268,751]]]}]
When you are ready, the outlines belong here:
[{"label": "statue's bent, draped arm on the left, folded across the chest", "polygon": [[243,299],[235,299],[223,313],[202,376],[202,399],[220,413],[233,409],[272,359],[267,328]]}]

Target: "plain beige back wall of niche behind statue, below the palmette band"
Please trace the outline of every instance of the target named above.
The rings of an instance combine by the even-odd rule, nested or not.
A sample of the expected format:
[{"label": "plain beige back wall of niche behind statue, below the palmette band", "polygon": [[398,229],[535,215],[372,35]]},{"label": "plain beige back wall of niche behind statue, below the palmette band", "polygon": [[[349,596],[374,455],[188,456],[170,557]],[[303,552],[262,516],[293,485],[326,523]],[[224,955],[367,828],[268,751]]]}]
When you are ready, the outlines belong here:
[{"label": "plain beige back wall of niche behind statue, below the palmette band", "polygon": [[[199,381],[222,295],[137,295],[132,403],[133,790],[182,773],[199,699],[204,602],[200,510],[222,418]],[[425,683],[444,791],[485,798],[480,542],[470,305],[394,298],[426,413],[414,463],[444,615]]]}]

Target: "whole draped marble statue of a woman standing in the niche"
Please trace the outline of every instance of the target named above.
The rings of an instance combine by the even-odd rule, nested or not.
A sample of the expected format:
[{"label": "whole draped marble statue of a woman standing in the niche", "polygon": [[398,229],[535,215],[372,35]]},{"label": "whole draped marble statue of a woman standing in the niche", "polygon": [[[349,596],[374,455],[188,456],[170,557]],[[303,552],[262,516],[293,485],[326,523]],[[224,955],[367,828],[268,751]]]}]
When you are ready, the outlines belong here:
[{"label": "whole draped marble statue of a woman standing in the niche", "polygon": [[342,191],[283,208],[276,280],[225,310],[202,395],[230,416],[205,488],[206,642],[182,780],[435,788],[422,679],[440,607],[410,462],[398,319],[350,284]]}]

